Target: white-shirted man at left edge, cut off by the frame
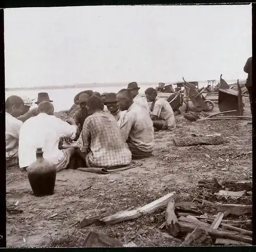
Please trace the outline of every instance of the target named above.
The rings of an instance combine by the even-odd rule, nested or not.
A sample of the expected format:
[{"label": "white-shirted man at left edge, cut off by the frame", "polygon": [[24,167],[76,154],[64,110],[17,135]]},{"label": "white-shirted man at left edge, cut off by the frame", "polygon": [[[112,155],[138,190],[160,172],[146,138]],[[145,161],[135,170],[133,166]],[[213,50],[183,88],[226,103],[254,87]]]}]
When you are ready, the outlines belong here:
[{"label": "white-shirted man at left edge, cut off by the frame", "polygon": [[18,96],[10,96],[5,102],[5,151],[7,166],[18,164],[19,131],[23,122],[17,117],[23,111],[24,101]]}]

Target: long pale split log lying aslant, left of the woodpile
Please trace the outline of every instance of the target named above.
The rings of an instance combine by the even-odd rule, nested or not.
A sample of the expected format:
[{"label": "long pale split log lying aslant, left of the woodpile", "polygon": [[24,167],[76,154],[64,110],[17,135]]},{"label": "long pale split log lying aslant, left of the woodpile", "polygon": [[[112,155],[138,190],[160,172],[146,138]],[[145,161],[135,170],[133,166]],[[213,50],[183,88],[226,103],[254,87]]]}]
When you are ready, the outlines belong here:
[{"label": "long pale split log lying aslant, left of the woodpile", "polygon": [[151,214],[161,208],[166,207],[169,200],[174,199],[176,196],[175,192],[168,193],[165,196],[144,205],[143,207],[139,207],[130,211],[124,210],[122,212],[101,218],[99,220],[100,224],[115,224],[118,222],[133,220],[145,214]]}]

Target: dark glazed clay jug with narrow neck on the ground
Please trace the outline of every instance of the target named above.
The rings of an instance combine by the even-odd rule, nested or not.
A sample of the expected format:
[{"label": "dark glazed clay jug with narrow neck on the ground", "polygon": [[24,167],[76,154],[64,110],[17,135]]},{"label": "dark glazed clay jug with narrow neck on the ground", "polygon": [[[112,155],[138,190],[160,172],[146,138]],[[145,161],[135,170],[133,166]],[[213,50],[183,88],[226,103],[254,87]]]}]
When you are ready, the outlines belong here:
[{"label": "dark glazed clay jug with narrow neck on the ground", "polygon": [[42,148],[37,148],[36,161],[27,168],[29,183],[35,196],[54,194],[56,168],[42,157],[43,153]]}]

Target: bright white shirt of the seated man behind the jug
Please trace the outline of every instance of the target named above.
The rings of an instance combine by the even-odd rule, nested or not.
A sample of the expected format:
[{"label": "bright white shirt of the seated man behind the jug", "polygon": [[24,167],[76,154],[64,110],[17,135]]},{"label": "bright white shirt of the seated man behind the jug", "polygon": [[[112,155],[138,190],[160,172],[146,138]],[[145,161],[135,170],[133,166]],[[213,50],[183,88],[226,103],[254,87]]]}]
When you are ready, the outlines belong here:
[{"label": "bright white shirt of the seated man behind the jug", "polygon": [[59,139],[75,138],[76,126],[70,125],[55,116],[39,113],[23,123],[19,133],[19,167],[27,167],[36,161],[36,148],[42,148],[44,158],[57,164],[63,158],[58,149]]}]

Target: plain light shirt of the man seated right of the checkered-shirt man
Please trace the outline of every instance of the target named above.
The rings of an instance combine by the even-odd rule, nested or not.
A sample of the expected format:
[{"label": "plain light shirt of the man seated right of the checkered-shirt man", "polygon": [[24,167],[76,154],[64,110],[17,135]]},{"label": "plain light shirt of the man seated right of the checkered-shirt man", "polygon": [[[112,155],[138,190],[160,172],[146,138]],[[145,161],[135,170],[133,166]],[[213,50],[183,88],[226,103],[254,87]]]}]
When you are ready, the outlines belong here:
[{"label": "plain light shirt of the man seated right of the checkered-shirt man", "polygon": [[150,114],[133,103],[121,122],[121,131],[127,141],[131,141],[140,150],[150,152],[154,145],[154,128]]}]

